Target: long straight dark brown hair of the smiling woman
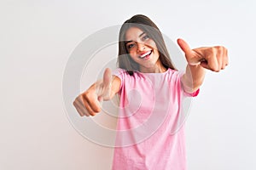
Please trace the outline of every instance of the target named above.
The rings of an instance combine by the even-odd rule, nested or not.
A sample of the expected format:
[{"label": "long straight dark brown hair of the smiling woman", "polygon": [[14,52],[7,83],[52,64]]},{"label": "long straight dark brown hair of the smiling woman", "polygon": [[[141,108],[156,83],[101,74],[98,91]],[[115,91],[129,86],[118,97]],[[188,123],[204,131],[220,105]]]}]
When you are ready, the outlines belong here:
[{"label": "long straight dark brown hair of the smiling woman", "polygon": [[139,65],[130,57],[128,50],[125,47],[125,33],[131,27],[137,27],[144,31],[150,38],[152,38],[160,53],[160,62],[166,69],[171,68],[176,70],[172,64],[172,60],[166,48],[166,43],[159,30],[159,28],[143,14],[137,14],[126,20],[119,31],[119,68],[125,69],[132,76],[133,71],[139,71]]}]

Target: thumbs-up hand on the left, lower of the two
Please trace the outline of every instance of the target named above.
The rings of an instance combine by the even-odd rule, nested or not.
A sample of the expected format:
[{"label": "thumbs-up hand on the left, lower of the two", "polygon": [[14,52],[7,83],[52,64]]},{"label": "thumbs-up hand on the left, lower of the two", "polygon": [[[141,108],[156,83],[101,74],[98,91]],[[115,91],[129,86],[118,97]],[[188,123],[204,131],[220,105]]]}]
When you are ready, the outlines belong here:
[{"label": "thumbs-up hand on the left, lower of the two", "polygon": [[103,80],[94,83],[83,94],[80,94],[73,102],[80,116],[95,116],[100,112],[102,100],[110,99],[112,74],[106,69]]}]

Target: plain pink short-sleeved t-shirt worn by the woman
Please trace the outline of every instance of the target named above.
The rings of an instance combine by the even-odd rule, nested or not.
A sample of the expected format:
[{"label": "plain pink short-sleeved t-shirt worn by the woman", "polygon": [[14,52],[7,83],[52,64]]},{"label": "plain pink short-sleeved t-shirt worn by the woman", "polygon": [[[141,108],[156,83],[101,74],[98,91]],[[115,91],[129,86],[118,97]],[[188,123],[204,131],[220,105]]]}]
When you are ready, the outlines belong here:
[{"label": "plain pink short-sleeved t-shirt worn by the woman", "polygon": [[117,69],[120,78],[119,120],[113,155],[113,170],[185,170],[185,136],[182,73],[130,76]]}]

